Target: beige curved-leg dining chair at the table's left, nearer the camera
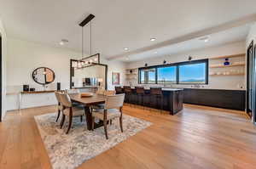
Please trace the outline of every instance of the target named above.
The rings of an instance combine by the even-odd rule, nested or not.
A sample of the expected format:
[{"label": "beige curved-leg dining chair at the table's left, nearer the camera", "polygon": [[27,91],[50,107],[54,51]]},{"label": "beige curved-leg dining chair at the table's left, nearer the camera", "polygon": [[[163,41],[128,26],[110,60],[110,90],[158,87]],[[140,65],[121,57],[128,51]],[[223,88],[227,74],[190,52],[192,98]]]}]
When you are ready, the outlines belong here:
[{"label": "beige curved-leg dining chair at the table's left, nearer the camera", "polygon": [[71,99],[69,98],[67,93],[61,93],[59,94],[59,96],[61,99],[61,105],[63,106],[61,128],[63,127],[66,116],[68,116],[69,121],[68,121],[68,127],[66,132],[68,133],[72,126],[73,117],[80,117],[81,122],[83,121],[84,110],[79,109],[76,106],[73,106]]}]

